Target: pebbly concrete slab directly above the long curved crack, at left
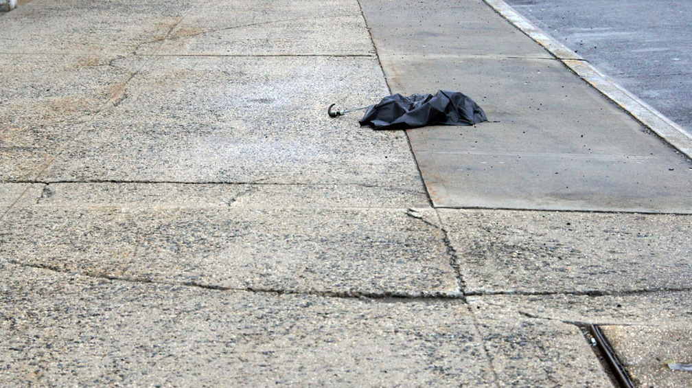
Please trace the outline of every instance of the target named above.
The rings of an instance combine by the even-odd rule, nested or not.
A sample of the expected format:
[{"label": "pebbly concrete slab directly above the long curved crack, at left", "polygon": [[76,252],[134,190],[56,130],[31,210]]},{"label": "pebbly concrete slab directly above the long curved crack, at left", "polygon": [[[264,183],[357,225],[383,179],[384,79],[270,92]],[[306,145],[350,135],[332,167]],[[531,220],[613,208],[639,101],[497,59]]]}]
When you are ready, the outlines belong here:
[{"label": "pebbly concrete slab directly above the long curved crack, at left", "polygon": [[339,295],[459,295],[441,230],[405,210],[36,205],[12,208],[0,224],[0,241],[4,261],[108,278]]}]

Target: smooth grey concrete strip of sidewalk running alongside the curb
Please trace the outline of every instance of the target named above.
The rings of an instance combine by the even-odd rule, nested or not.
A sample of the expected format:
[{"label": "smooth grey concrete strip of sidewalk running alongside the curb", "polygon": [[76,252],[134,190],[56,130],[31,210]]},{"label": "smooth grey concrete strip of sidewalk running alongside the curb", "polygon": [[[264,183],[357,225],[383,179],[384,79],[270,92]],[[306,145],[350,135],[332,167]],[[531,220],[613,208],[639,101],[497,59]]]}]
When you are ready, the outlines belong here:
[{"label": "smooth grey concrete strip of sidewalk running alongside the curb", "polygon": [[491,121],[408,131],[435,206],[692,212],[689,160],[482,1],[362,3],[392,92],[462,91]]}]

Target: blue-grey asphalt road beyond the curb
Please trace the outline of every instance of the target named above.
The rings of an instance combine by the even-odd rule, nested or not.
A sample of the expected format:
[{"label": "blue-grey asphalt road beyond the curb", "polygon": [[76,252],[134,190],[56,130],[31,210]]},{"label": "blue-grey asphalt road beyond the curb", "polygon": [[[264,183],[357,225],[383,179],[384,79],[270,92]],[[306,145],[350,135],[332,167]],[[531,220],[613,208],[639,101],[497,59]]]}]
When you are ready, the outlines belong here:
[{"label": "blue-grey asphalt road beyond the curb", "polygon": [[505,1],[692,133],[692,1]]}]

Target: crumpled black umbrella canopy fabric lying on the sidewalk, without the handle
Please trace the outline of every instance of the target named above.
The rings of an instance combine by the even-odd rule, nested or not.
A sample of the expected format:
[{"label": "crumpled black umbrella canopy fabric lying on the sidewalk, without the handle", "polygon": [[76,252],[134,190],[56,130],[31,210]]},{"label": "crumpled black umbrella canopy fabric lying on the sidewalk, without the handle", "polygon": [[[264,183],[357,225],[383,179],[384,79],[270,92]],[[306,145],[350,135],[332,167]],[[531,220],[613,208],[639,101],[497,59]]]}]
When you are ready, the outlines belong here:
[{"label": "crumpled black umbrella canopy fabric lying on the sidewalk, without the handle", "polygon": [[372,105],[359,121],[372,129],[409,129],[426,125],[473,125],[488,120],[471,98],[457,91],[389,95]]}]

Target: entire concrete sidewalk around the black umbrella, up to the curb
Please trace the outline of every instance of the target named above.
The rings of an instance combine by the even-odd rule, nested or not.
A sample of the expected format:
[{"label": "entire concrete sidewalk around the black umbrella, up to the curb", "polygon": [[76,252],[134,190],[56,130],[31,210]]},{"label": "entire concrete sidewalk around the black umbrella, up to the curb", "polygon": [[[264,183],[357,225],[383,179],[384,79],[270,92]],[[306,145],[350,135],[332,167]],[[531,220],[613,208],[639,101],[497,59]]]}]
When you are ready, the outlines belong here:
[{"label": "entire concrete sidewalk around the black umbrella, up to the curb", "polygon": [[[486,3],[404,4],[34,0],[0,16],[0,384],[607,387],[585,333],[599,324],[637,385],[689,385],[667,366],[692,362],[689,160]],[[536,64],[588,108],[511,87]],[[377,132],[326,114],[390,88],[459,89],[493,122]],[[540,120],[521,116],[527,90],[551,102]],[[563,119],[580,109],[609,113]],[[522,125],[530,141],[501,136]],[[647,167],[571,176],[592,186],[581,198],[492,174],[459,194],[470,170],[428,169],[439,150],[419,148],[548,168],[574,154],[555,149],[565,131]]]}]

